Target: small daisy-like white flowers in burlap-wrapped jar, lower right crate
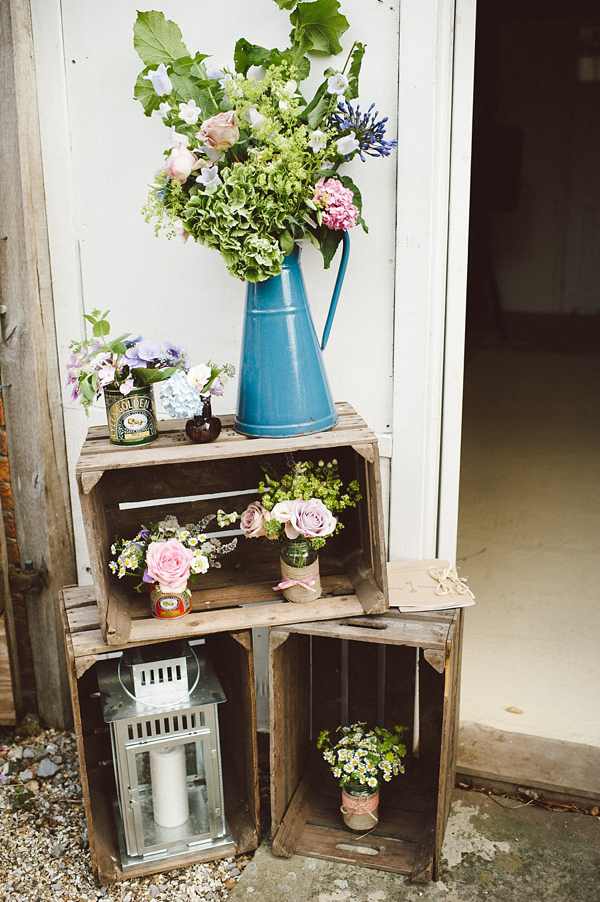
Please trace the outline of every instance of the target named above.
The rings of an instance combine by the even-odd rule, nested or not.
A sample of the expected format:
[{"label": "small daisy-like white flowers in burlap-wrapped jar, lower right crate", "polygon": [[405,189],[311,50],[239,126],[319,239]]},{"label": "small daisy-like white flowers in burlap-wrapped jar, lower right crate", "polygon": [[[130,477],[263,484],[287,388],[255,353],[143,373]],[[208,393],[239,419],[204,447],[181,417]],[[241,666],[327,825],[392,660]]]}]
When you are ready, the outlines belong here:
[{"label": "small daisy-like white flowers in burlap-wrapped jar, lower right crate", "polygon": [[381,780],[389,782],[404,773],[406,746],[401,737],[405,730],[399,726],[393,732],[383,727],[367,730],[366,722],[360,721],[338,727],[342,736],[335,743],[329,730],[319,733],[317,748],[342,787],[342,816],[351,830],[362,832],[377,826]]}]

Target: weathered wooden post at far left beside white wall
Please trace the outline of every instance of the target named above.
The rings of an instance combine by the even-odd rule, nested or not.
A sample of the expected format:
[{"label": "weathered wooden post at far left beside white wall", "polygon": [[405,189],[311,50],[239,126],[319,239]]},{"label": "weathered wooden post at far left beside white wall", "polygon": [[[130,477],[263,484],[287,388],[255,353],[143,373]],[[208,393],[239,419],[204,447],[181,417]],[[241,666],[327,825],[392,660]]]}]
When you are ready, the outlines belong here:
[{"label": "weathered wooden post at far left beside white wall", "polygon": [[71,721],[59,592],[76,581],[29,0],[0,4],[0,369],[43,720]]}]

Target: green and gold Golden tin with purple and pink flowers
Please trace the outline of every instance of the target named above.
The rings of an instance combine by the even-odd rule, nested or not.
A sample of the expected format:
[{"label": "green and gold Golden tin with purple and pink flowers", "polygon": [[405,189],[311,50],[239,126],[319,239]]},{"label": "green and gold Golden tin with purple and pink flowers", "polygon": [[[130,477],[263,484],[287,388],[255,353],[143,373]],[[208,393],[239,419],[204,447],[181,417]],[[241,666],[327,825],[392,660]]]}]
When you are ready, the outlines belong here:
[{"label": "green and gold Golden tin with purple and pink flowers", "polygon": [[80,401],[89,414],[94,401],[104,398],[112,445],[147,445],[158,438],[153,386],[178,370],[187,370],[185,348],[165,342],[163,347],[129,333],[110,338],[107,316],[92,310],[85,319],[92,337],[73,341],[67,364],[70,400]]}]

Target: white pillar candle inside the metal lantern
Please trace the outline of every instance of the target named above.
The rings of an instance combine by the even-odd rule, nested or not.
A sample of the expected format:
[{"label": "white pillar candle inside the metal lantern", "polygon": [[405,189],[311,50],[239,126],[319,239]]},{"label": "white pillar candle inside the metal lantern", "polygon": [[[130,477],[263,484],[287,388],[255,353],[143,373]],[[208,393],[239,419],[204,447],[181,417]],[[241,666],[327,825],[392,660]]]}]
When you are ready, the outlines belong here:
[{"label": "white pillar candle inside the metal lantern", "polygon": [[185,748],[153,749],[150,778],[154,820],[161,827],[180,827],[190,816],[185,769]]}]

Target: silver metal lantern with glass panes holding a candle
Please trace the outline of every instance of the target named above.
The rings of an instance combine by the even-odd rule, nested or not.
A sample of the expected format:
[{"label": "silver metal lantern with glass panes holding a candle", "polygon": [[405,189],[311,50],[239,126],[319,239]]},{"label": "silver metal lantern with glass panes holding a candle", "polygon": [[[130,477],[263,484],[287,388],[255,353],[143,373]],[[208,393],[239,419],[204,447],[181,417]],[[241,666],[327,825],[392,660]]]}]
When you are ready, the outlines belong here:
[{"label": "silver metal lantern with glass panes holding a candle", "polygon": [[226,698],[206,654],[165,642],[107,656],[97,670],[123,869],[231,843],[217,717]]}]

